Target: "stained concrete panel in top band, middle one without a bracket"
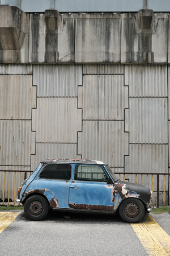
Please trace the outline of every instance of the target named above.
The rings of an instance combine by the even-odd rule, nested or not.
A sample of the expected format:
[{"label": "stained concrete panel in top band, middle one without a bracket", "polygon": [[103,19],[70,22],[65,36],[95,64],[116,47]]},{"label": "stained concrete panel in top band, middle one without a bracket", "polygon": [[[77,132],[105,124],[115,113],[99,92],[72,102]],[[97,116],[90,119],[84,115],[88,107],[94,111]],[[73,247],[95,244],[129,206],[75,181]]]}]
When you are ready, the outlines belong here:
[{"label": "stained concrete panel in top band, middle one without a bracket", "polygon": [[118,63],[120,47],[120,14],[76,14],[75,63]]}]

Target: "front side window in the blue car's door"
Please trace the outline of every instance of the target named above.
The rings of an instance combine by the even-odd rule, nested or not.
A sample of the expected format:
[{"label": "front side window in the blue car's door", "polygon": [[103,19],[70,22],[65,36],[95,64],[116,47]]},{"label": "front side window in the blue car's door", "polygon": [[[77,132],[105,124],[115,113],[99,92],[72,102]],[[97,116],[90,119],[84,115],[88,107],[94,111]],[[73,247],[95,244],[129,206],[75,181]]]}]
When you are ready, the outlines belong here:
[{"label": "front side window in the blue car's door", "polygon": [[74,180],[107,182],[108,176],[101,166],[77,164],[74,171]]}]

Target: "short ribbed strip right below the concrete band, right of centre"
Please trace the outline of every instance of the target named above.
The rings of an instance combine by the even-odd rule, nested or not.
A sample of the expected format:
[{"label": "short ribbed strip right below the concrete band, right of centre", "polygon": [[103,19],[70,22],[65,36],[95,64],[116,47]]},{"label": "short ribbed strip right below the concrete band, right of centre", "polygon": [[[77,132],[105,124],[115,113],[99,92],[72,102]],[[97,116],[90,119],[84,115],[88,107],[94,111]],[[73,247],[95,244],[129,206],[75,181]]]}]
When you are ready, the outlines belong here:
[{"label": "short ribbed strip right below the concrete band, right of centre", "polygon": [[109,75],[124,74],[124,65],[122,64],[84,64],[84,75]]}]

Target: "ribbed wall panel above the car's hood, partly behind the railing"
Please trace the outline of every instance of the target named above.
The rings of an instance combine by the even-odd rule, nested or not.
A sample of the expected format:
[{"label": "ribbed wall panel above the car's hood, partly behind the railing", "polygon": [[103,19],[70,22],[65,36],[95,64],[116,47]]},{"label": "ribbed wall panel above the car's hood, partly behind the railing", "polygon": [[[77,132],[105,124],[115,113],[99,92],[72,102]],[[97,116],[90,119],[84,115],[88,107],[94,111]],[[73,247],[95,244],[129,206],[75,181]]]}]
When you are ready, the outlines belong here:
[{"label": "ribbed wall panel above the car's hood, partly behind the railing", "polygon": [[[129,156],[125,156],[125,172],[145,172],[145,173],[168,173],[168,145],[131,145],[129,146]],[[135,182],[134,180],[131,180]],[[138,178],[141,183],[141,177]],[[143,183],[146,183],[146,175]],[[163,190],[163,176],[159,180],[160,191]],[[156,177],[154,177],[156,189]],[[149,187],[152,188],[151,179]]]}]

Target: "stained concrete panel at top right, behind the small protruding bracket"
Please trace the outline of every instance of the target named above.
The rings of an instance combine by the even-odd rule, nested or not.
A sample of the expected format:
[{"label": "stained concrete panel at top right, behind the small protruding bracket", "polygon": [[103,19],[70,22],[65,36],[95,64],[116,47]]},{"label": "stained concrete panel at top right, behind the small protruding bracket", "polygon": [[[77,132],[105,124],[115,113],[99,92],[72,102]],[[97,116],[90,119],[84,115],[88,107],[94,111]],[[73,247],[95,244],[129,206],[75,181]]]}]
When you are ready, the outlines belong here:
[{"label": "stained concrete panel at top right, behind the small protruding bracket", "polygon": [[121,63],[167,63],[168,15],[150,11],[122,14]]}]

